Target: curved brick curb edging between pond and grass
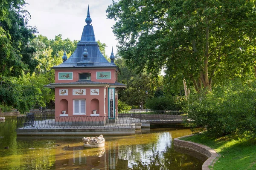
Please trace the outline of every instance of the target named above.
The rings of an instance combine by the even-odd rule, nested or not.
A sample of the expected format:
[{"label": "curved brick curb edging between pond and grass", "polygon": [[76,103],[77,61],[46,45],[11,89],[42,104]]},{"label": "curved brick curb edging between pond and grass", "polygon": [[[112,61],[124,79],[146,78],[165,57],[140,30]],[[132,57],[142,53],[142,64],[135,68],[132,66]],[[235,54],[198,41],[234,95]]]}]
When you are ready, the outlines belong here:
[{"label": "curved brick curb edging between pond and grass", "polygon": [[218,153],[216,153],[216,151],[213,150],[212,148],[207,147],[205,145],[197,144],[191,141],[180,140],[180,138],[189,137],[189,136],[192,136],[192,135],[186,135],[179,138],[175,138],[174,145],[177,147],[183,147],[190,150],[195,150],[196,152],[207,156],[208,159],[202,165],[202,170],[209,170],[209,165],[213,166],[213,164],[215,163],[215,159],[219,156]]}]

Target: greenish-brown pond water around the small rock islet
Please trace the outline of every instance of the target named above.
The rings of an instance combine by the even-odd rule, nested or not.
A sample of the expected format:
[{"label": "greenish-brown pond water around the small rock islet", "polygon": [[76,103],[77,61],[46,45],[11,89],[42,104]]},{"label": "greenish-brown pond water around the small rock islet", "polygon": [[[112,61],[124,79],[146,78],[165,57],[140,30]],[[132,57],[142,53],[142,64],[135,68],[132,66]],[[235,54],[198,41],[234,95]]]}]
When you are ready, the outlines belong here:
[{"label": "greenish-brown pond water around the small rock islet", "polygon": [[0,123],[0,170],[201,170],[206,159],[173,146],[189,129],[105,135],[101,149],[84,148],[83,136],[17,136],[15,130],[16,117]]}]

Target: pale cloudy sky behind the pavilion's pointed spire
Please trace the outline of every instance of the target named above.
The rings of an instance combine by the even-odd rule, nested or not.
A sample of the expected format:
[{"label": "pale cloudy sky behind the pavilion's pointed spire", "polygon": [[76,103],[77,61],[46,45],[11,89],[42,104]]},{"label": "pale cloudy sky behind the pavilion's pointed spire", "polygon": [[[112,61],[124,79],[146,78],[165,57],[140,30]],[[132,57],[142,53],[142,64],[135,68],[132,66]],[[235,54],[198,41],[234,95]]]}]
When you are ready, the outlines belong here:
[{"label": "pale cloudy sky behind the pavilion's pointed spire", "polygon": [[36,26],[38,34],[54,39],[61,34],[63,39],[80,40],[89,5],[90,17],[96,40],[107,45],[106,55],[116,54],[117,40],[112,32],[114,20],[107,19],[106,9],[112,0],[26,0],[25,9],[30,13],[30,26]]}]

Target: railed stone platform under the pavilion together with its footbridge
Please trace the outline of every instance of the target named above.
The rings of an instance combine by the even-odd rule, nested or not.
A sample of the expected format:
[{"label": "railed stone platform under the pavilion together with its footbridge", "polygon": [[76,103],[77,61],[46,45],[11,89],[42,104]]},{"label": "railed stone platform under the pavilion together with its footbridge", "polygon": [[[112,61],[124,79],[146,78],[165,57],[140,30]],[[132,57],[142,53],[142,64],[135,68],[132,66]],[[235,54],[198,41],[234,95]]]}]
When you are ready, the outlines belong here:
[{"label": "railed stone platform under the pavilion together with its footbridge", "polygon": [[59,116],[53,111],[17,117],[17,135],[135,135],[152,124],[182,124],[183,112],[126,112],[108,116]]}]

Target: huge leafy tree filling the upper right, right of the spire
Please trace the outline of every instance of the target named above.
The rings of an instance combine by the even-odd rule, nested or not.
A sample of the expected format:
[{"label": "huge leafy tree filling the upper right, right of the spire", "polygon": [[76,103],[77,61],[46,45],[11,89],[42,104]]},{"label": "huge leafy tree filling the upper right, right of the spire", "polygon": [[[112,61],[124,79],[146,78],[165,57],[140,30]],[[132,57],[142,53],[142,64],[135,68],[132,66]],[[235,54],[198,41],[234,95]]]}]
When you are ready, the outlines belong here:
[{"label": "huge leafy tree filling the upper right, right of the spire", "polygon": [[200,92],[252,73],[255,9],[253,0],[119,0],[107,12],[129,66],[166,68]]}]

